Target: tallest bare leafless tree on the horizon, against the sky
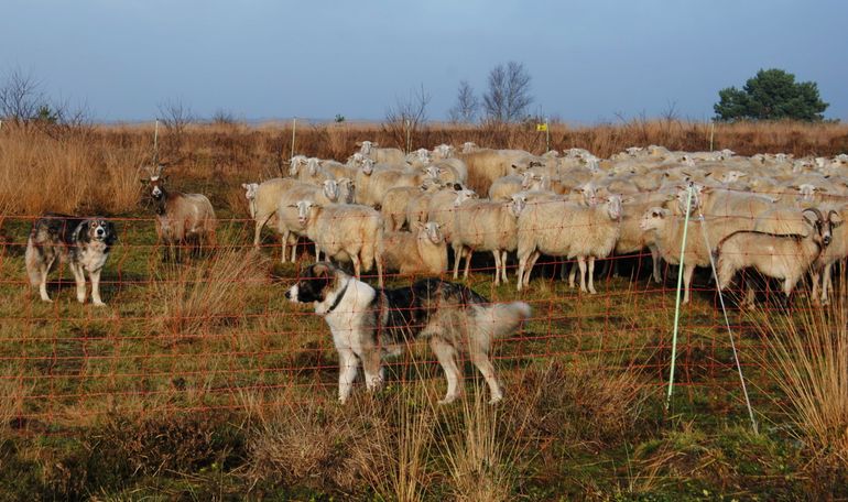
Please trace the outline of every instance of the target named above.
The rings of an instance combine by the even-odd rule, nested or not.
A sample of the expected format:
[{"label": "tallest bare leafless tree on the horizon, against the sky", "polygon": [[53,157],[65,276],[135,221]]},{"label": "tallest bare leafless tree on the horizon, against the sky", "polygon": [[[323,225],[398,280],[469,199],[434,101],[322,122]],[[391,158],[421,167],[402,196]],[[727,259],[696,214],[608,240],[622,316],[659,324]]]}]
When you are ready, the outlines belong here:
[{"label": "tallest bare leafless tree on the horizon, against the sky", "polygon": [[524,118],[533,97],[530,74],[522,63],[511,61],[489,72],[489,89],[482,96],[486,117],[497,122],[514,122]]}]

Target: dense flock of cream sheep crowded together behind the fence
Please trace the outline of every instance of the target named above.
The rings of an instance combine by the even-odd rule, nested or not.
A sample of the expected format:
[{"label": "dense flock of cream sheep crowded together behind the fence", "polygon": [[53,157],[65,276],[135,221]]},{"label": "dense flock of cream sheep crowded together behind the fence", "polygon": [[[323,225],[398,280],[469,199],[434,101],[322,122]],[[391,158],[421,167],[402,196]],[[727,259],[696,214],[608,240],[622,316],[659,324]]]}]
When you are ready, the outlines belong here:
[{"label": "dense flock of cream sheep crowded together behind the fence", "polygon": [[[365,141],[345,163],[297,155],[290,166],[289,177],[242,185],[254,245],[268,226],[281,238],[283,261],[294,261],[297,239],[307,238],[316,259],[352,263],[357,276],[376,266],[380,285],[389,271],[446,273],[449,248],[454,279],[463,259],[467,276],[472,254],[489,252],[494,283],[508,282],[515,253],[521,291],[545,254],[575,259],[569,283],[579,271],[580,290],[595,293],[596,259],[649,251],[659,282],[661,260],[680,264],[686,234],[685,303],[695,268],[711,262],[719,287],[755,269],[782,281],[787,297],[809,272],[814,299],[826,303],[833,266],[848,257],[848,226],[840,227],[848,155],[748,157],[652,145],[601,160],[581,149],[534,155],[474,143],[404,154]],[[198,205],[194,214],[211,211]],[[209,226],[180,218],[184,232]],[[749,285],[746,303],[752,292]]]}]

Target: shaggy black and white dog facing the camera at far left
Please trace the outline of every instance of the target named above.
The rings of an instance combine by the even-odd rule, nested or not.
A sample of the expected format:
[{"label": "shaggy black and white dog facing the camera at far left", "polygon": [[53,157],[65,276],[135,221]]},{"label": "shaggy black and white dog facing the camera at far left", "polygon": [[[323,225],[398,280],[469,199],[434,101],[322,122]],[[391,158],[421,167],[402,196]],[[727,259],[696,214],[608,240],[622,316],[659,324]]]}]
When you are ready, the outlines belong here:
[{"label": "shaggy black and white dog facing the camera at far left", "polygon": [[30,283],[39,287],[41,299],[51,302],[47,296],[47,274],[58,258],[74,273],[79,303],[86,301],[87,271],[91,279],[91,302],[97,306],[106,305],[100,299],[100,272],[118,236],[115,225],[100,217],[45,214],[33,223],[26,242],[25,261]]}]

